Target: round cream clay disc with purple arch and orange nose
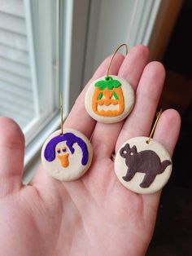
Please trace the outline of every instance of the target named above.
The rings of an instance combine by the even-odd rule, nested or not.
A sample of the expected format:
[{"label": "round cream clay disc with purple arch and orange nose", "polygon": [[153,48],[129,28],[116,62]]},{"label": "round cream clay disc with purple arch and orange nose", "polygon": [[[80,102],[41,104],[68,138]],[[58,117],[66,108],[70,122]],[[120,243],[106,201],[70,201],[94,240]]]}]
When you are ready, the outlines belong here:
[{"label": "round cream clay disc with purple arch and orange nose", "polygon": [[93,152],[89,139],[80,131],[63,129],[55,131],[44,143],[41,162],[55,179],[79,179],[91,164]]}]

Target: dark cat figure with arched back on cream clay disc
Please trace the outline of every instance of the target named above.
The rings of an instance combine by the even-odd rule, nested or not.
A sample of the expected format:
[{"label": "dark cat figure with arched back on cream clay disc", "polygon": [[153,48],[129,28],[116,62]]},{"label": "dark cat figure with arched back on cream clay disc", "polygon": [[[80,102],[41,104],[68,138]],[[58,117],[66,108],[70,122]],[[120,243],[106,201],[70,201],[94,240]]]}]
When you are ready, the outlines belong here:
[{"label": "dark cat figure with arched back on cream clay disc", "polygon": [[125,164],[128,166],[127,174],[122,177],[125,181],[133,179],[137,172],[146,174],[140,184],[141,188],[149,188],[156,175],[162,174],[172,164],[169,160],[161,162],[159,156],[152,150],[137,152],[136,146],[130,148],[129,143],[120,149],[120,156],[125,158]]}]

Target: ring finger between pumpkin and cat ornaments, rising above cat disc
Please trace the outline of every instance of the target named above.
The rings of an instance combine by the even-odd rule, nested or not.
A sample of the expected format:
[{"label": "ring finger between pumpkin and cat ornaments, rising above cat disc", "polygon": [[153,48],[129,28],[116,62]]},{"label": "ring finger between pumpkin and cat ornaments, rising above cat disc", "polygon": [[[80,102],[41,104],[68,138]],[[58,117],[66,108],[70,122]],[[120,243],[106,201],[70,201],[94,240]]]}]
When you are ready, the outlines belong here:
[{"label": "ring finger between pumpkin and cat ornaments, rising above cat disc", "polygon": [[162,64],[151,62],[146,65],[137,87],[135,106],[130,116],[124,122],[116,143],[116,150],[127,139],[149,135],[163,89],[164,77],[165,72]]}]

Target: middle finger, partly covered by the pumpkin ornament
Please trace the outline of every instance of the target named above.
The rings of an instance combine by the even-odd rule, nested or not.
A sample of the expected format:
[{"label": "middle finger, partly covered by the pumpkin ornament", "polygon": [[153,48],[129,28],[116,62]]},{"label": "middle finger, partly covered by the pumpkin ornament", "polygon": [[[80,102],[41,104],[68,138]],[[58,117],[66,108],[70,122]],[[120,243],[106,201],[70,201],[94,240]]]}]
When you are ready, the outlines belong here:
[{"label": "middle finger, partly covered by the pumpkin ornament", "polygon": [[[123,77],[136,90],[139,79],[142,76],[143,69],[148,60],[149,51],[146,46],[135,46],[125,57],[120,66],[118,76]],[[128,117],[129,118],[129,117]],[[92,139],[93,145],[102,143],[103,156],[111,157],[116,145],[116,139],[120,134],[120,130],[124,121],[115,124],[97,123]]]}]

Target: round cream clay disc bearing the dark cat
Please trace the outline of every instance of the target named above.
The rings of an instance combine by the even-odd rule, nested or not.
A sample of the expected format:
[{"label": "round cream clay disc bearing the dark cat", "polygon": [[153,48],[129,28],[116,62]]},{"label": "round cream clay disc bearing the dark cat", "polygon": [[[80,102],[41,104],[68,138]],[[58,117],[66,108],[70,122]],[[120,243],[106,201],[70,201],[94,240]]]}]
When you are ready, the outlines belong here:
[{"label": "round cream clay disc bearing the dark cat", "polygon": [[115,172],[124,187],[147,194],[159,191],[168,182],[172,161],[168,151],[157,141],[135,137],[126,141],[115,158]]}]

